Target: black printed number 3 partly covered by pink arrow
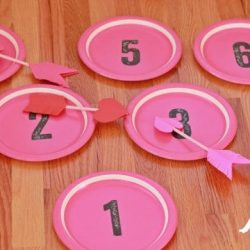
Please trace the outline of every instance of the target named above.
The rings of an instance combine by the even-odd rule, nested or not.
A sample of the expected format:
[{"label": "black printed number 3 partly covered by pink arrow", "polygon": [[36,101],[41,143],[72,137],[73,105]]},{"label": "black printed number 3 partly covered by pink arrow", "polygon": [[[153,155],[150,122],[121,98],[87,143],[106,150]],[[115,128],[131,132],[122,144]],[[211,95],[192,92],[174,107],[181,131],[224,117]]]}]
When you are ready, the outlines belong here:
[{"label": "black printed number 3 partly covered by pink arrow", "polygon": [[[186,135],[191,136],[192,131],[191,131],[190,125],[188,124],[188,121],[189,121],[188,112],[187,112],[185,109],[172,109],[172,110],[169,112],[169,117],[170,117],[170,118],[176,118],[176,117],[177,117],[177,114],[180,114],[180,115],[181,115],[181,120],[180,120],[180,122],[183,124],[183,132],[184,132]],[[175,138],[177,138],[177,139],[185,139],[183,136],[177,134],[176,132],[173,132],[172,134],[173,134],[173,136],[174,136]]]}]

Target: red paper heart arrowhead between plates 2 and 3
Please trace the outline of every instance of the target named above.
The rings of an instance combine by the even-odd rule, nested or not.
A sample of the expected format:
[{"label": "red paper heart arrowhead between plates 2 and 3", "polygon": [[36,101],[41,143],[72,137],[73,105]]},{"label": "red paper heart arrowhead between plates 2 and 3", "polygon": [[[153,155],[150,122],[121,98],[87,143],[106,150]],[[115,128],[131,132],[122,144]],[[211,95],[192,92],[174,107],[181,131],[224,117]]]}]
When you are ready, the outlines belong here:
[{"label": "red paper heart arrowhead between plates 2 and 3", "polygon": [[94,112],[94,119],[102,123],[113,122],[128,114],[127,109],[113,98],[102,99],[98,107]]}]

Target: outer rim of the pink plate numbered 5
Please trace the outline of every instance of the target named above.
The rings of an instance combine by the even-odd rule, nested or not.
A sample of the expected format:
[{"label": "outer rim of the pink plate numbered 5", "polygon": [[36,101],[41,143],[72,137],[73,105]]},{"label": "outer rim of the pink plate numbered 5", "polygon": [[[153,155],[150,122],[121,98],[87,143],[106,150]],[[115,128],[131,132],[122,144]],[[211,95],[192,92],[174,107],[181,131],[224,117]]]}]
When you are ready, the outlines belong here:
[{"label": "outer rim of the pink plate numbered 5", "polygon": [[[173,59],[168,63],[164,64],[162,67],[160,67],[157,70],[150,71],[149,73],[137,75],[137,76],[131,76],[131,75],[121,75],[121,74],[116,74],[113,72],[110,72],[108,70],[103,69],[102,67],[97,66],[95,63],[93,63],[91,60],[89,60],[89,57],[86,53],[86,50],[84,49],[86,47],[86,41],[89,37],[89,35],[98,27],[103,26],[104,24],[108,22],[113,22],[113,21],[118,21],[118,20],[142,20],[142,21],[148,21],[154,24],[157,24],[167,30],[173,37],[175,44],[176,44],[176,53],[173,57]],[[84,45],[84,46],[82,46]],[[169,72],[171,69],[173,69],[179,60],[181,59],[182,55],[182,44],[179,36],[177,33],[170,27],[166,26],[164,23],[154,20],[152,18],[148,17],[140,17],[140,16],[118,16],[118,17],[112,17],[112,18],[107,18],[102,21],[96,22],[95,24],[91,25],[89,28],[87,28],[80,36],[80,39],[77,44],[77,50],[78,50],[78,55],[82,62],[91,70],[93,70],[95,73],[98,73],[104,77],[111,78],[113,80],[122,80],[122,81],[143,81],[143,80],[149,80],[156,78],[158,76],[161,76],[167,72]]]}]

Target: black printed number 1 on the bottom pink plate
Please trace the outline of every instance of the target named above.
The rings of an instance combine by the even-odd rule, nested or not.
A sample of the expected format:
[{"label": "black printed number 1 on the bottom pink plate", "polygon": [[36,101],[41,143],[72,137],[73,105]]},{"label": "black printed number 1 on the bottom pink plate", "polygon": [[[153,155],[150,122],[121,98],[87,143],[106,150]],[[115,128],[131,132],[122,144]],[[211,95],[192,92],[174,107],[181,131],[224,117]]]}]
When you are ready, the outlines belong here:
[{"label": "black printed number 1 on the bottom pink plate", "polygon": [[103,208],[104,208],[104,211],[110,210],[113,234],[115,236],[122,235],[120,216],[119,216],[119,209],[118,209],[117,201],[112,200],[109,203],[105,204],[103,206]]}]

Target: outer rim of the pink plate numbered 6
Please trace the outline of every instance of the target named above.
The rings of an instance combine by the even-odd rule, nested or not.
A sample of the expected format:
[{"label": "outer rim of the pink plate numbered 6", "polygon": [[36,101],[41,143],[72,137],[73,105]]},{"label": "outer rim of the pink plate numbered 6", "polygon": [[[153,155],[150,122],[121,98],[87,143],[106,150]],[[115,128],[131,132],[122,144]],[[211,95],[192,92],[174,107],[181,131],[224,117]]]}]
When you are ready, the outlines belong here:
[{"label": "outer rim of the pink plate numbered 6", "polygon": [[233,76],[229,75],[227,73],[224,73],[220,70],[217,70],[214,68],[212,65],[210,65],[207,60],[203,57],[200,49],[201,41],[203,37],[211,30],[214,28],[217,28],[221,25],[226,25],[226,24],[233,24],[233,23],[247,23],[250,24],[250,19],[227,19],[223,21],[218,21],[213,24],[208,25],[206,28],[204,28],[198,35],[196,36],[194,43],[193,43],[193,53],[194,57],[197,60],[197,62],[200,64],[200,66],[212,74],[213,76],[216,76],[222,80],[226,80],[231,83],[236,83],[236,84],[243,84],[243,85],[250,85],[250,77],[249,79],[246,79],[245,77],[238,77],[238,76]]}]

